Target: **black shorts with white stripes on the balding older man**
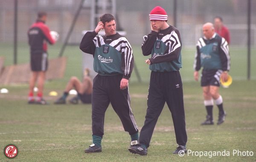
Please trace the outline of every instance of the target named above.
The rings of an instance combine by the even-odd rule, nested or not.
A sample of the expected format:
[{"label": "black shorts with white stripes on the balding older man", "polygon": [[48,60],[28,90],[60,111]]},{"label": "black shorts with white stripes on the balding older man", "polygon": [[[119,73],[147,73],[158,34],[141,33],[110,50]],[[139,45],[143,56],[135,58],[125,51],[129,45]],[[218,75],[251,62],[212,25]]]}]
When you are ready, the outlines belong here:
[{"label": "black shorts with white stripes on the balding older man", "polygon": [[201,86],[220,86],[220,76],[222,70],[203,70],[201,75]]}]

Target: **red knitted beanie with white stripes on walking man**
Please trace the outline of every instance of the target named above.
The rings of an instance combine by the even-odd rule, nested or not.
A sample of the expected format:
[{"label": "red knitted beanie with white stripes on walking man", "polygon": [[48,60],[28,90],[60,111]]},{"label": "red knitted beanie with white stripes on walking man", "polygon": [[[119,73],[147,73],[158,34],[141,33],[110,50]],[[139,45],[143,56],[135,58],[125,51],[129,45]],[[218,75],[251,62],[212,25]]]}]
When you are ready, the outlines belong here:
[{"label": "red knitted beanie with white stripes on walking man", "polygon": [[160,6],[156,6],[154,9],[151,10],[151,12],[149,14],[150,20],[165,21],[165,20],[167,20],[167,18],[168,18],[168,15],[166,14],[166,11]]}]

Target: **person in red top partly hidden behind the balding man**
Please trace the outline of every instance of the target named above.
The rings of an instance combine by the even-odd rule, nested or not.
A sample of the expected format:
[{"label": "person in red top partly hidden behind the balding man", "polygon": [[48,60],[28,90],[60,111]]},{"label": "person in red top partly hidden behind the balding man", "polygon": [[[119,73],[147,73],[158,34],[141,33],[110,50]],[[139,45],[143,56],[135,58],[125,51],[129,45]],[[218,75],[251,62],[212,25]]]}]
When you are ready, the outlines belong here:
[{"label": "person in red top partly hidden behind the balding man", "polygon": [[214,29],[217,34],[223,37],[228,44],[230,44],[230,32],[226,26],[223,25],[223,19],[219,16],[214,18]]}]

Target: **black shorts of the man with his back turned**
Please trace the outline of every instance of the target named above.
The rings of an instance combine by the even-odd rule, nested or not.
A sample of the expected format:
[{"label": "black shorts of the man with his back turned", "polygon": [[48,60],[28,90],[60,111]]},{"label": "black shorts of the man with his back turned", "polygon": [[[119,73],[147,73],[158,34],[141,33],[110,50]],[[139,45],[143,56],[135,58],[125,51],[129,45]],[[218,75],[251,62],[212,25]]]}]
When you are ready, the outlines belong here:
[{"label": "black shorts of the man with his back turned", "polygon": [[30,67],[32,71],[47,71],[48,54],[44,51],[34,51],[30,54]]}]

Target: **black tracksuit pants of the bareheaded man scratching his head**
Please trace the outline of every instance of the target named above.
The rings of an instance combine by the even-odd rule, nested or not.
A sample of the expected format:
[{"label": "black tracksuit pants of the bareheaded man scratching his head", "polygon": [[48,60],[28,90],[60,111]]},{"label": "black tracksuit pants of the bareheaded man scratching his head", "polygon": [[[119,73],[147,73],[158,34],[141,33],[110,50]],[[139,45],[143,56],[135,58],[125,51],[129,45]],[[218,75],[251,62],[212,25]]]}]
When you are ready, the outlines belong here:
[{"label": "black tracksuit pants of the bareheaded man scratching his head", "polygon": [[111,103],[114,111],[121,119],[125,131],[130,135],[138,132],[138,127],[130,107],[128,88],[120,89],[122,75],[101,76],[93,80],[92,93],[92,129],[93,135],[103,136],[105,112]]}]

